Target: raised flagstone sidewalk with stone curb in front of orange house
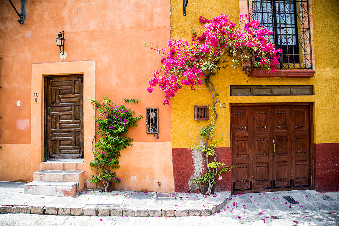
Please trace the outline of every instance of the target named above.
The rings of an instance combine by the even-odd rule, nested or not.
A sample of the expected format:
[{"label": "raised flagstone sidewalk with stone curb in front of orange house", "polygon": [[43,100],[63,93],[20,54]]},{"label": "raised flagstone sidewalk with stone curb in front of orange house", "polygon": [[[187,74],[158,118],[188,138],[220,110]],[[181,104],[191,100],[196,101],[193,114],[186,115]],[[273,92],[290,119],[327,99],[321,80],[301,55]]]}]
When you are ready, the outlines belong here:
[{"label": "raised flagstone sidewalk with stone curb in front of orange house", "polygon": [[[230,192],[201,193],[83,190],[74,197],[24,194],[25,183],[0,182],[0,213],[52,215],[183,217],[206,216],[220,210]],[[0,225],[1,226],[1,225]]]}]

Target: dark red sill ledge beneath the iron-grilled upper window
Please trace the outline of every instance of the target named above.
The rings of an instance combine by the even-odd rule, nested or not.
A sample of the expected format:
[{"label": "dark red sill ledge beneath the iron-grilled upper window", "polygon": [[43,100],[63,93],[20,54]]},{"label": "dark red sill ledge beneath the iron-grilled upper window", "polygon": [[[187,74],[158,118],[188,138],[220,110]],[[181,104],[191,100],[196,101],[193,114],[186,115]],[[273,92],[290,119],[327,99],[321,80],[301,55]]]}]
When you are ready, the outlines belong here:
[{"label": "dark red sill ledge beneath the iron-grilled upper window", "polygon": [[267,69],[253,69],[247,75],[249,78],[311,78],[314,70],[276,70],[276,74],[271,74]]}]

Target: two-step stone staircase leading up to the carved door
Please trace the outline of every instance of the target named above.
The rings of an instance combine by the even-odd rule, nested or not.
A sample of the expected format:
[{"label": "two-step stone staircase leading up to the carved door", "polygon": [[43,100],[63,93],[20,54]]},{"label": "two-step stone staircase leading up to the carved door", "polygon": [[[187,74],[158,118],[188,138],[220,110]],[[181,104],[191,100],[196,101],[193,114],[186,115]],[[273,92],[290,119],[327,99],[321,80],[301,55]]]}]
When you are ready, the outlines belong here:
[{"label": "two-step stone staircase leading up to the carved door", "polygon": [[25,194],[73,197],[84,189],[83,170],[39,170],[33,173],[33,182],[24,186]]}]

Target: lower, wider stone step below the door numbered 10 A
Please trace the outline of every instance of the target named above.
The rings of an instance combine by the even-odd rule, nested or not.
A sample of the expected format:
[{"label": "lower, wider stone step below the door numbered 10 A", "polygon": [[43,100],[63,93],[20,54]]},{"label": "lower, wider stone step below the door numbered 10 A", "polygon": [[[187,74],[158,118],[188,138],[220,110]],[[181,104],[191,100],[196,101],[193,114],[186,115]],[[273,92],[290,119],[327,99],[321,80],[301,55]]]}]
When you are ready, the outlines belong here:
[{"label": "lower, wider stone step below the door numbered 10 A", "polygon": [[75,196],[80,190],[77,182],[46,182],[33,181],[24,186],[25,194],[38,194],[43,196]]}]

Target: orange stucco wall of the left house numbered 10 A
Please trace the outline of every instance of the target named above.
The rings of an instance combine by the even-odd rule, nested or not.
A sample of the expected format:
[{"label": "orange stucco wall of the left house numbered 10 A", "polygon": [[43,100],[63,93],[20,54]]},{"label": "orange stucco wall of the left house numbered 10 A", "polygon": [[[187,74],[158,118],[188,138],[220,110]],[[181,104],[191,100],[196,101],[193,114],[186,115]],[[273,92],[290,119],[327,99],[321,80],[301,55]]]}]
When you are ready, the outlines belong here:
[{"label": "orange stucco wall of the left house numbered 10 A", "polygon": [[[21,1],[12,2],[20,11]],[[139,104],[126,106],[144,118],[126,135],[133,138],[134,143],[122,151],[117,176],[123,182],[118,188],[173,191],[170,106],[161,104],[164,95],[159,90],[152,95],[146,90],[147,79],[154,68],[161,66],[160,57],[142,44],[146,41],[166,45],[170,38],[170,1],[27,1],[24,24],[18,23],[8,1],[1,1],[0,6],[0,180],[31,181],[34,171],[46,167],[41,164],[44,159],[43,76],[86,73],[86,63],[81,62],[94,62],[87,96],[84,91],[87,155],[84,163],[68,164],[68,169],[84,169],[89,180],[89,162],[93,157],[89,141],[94,135],[94,111],[88,97],[140,99]],[[59,57],[55,41],[62,31],[67,53],[64,60]],[[36,92],[40,98],[38,103],[32,102]],[[17,106],[17,101],[21,101],[21,106]],[[160,138],[157,140],[146,134],[147,107],[159,108]],[[49,167],[59,169],[60,164]],[[95,187],[91,183],[87,185]]]}]

